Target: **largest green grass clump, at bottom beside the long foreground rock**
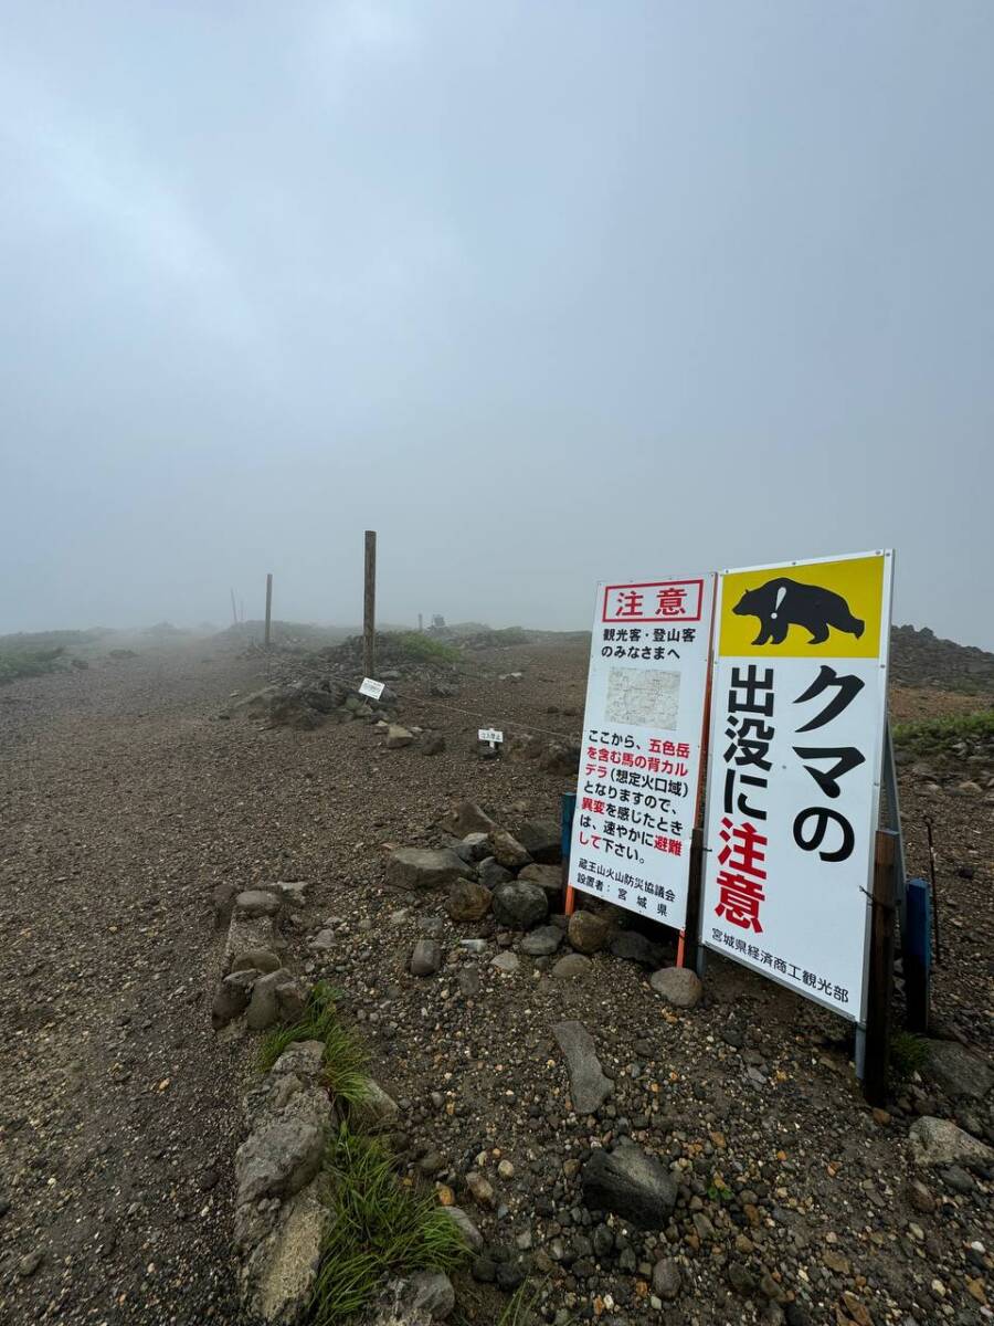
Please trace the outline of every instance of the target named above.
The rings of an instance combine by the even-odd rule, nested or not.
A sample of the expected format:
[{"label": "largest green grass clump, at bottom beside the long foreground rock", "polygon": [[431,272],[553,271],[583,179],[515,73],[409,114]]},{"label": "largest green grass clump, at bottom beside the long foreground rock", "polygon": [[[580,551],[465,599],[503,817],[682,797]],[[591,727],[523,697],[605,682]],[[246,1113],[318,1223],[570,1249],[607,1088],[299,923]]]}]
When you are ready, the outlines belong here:
[{"label": "largest green grass clump, at bottom beside the long foreground rock", "polygon": [[404,1187],[386,1143],[343,1123],[326,1156],[331,1174],[329,1233],[310,1301],[313,1326],[359,1311],[390,1276],[453,1270],[467,1242],[431,1193]]}]

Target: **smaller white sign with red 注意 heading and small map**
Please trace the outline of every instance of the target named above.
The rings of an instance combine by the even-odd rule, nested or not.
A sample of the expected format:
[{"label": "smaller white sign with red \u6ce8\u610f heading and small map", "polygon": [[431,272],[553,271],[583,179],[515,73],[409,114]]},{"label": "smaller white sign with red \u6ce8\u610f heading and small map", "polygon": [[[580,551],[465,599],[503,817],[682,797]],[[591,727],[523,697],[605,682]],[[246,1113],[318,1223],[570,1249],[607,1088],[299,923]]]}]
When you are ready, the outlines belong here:
[{"label": "smaller white sign with red \u6ce8\u610f heading and small map", "polygon": [[714,577],[598,585],[570,883],[683,930]]}]

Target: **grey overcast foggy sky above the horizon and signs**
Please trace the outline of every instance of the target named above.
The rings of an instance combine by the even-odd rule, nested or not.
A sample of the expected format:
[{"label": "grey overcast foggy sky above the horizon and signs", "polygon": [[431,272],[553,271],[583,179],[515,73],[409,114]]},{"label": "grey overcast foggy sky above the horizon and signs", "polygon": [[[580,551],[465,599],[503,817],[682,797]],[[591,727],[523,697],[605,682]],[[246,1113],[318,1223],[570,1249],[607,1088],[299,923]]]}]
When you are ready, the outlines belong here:
[{"label": "grey overcast foggy sky above the horizon and signs", "polygon": [[0,631],[587,626],[897,549],[994,647],[994,4],[0,4]]}]

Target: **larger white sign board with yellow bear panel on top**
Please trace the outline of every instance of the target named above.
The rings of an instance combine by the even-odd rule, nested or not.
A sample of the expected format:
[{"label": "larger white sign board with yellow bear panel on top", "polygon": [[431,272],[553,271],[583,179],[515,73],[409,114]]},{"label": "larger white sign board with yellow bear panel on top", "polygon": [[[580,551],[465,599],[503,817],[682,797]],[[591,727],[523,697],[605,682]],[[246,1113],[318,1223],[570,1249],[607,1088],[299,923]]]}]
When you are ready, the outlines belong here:
[{"label": "larger white sign board with yellow bear panel on top", "polygon": [[889,552],[725,572],[701,939],[864,1021]]}]

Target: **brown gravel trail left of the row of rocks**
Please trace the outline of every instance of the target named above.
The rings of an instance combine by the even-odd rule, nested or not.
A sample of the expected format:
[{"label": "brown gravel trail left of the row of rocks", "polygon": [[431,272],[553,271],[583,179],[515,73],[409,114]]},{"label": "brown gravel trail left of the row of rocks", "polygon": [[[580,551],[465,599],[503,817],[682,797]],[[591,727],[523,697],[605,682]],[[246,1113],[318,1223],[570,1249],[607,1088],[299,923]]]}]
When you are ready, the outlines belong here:
[{"label": "brown gravel trail left of the row of rocks", "polygon": [[240,866],[213,717],[249,668],[205,652],[0,699],[4,1322],[237,1319],[243,1055],[205,1000],[209,886]]}]

